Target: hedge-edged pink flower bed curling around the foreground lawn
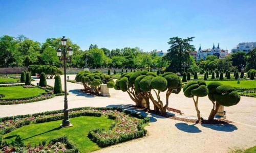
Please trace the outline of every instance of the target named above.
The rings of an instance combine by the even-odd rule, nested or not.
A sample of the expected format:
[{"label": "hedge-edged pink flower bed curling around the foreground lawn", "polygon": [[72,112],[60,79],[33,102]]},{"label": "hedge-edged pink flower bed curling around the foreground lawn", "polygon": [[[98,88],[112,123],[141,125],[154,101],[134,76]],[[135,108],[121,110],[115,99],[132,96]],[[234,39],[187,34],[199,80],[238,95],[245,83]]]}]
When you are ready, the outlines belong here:
[{"label": "hedge-edged pink flower bed curling around the foreground lawn", "polygon": [[[32,115],[18,115],[12,117],[0,118],[0,146],[4,147],[4,134],[22,127],[24,125],[56,121],[63,118],[63,110],[36,113]],[[120,108],[75,108],[70,109],[70,118],[78,116],[107,116],[115,120],[110,130],[94,129],[89,132],[88,137],[99,146],[109,146],[134,138],[143,137],[146,134],[144,126],[150,121],[149,118],[131,113]],[[40,145],[39,145],[40,146]],[[9,145],[10,147],[10,145]],[[34,149],[36,149],[35,147]]]}]

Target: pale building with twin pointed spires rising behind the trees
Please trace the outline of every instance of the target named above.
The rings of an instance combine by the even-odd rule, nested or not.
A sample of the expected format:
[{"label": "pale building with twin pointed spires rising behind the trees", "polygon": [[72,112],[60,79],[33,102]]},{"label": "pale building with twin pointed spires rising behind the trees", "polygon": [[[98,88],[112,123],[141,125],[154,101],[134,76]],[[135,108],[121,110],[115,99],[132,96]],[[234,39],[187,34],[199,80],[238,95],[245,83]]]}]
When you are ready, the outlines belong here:
[{"label": "pale building with twin pointed spires rising behind the trees", "polygon": [[201,45],[197,51],[197,61],[200,59],[205,60],[207,56],[209,55],[214,55],[217,56],[219,59],[223,59],[226,56],[228,56],[228,50],[224,50],[222,48],[220,48],[220,45],[218,44],[217,47],[212,46],[212,48],[208,48],[208,49],[202,49]]}]

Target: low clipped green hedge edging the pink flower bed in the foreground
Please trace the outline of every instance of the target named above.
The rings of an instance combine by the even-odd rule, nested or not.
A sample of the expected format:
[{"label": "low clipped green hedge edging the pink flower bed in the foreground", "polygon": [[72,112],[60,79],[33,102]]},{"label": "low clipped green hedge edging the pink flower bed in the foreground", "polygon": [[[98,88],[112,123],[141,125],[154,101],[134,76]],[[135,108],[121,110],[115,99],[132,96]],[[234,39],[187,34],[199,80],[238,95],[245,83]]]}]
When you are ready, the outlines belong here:
[{"label": "low clipped green hedge edging the pink flower bed in the foreground", "polygon": [[[74,108],[74,109],[70,109],[70,111],[79,111],[79,110],[99,110],[99,111],[103,111],[103,110],[116,110],[119,111],[120,113],[124,113],[125,115],[130,115],[132,117],[141,119],[140,122],[138,123],[138,131],[136,133],[132,133],[132,134],[126,134],[126,135],[122,135],[119,138],[108,138],[108,139],[104,139],[104,140],[100,140],[96,137],[96,133],[97,132],[102,132],[103,129],[94,129],[91,130],[88,134],[88,137],[96,142],[99,146],[101,147],[105,147],[105,146],[109,146],[109,145],[113,145],[116,143],[120,143],[120,142],[124,142],[124,141],[128,141],[128,140],[132,140],[135,138],[139,138],[139,137],[143,137],[146,134],[146,130],[144,129],[144,125],[146,125],[148,122],[150,122],[150,118],[148,117],[144,117],[140,114],[136,114],[136,113],[132,113],[128,110],[122,110],[120,108],[106,108],[106,107],[102,107],[102,108],[94,108],[94,107],[81,107],[81,108]],[[3,117],[0,118],[0,122],[4,122],[7,120],[14,120],[17,118],[27,118],[27,117],[37,117],[39,115],[51,115],[51,114],[58,114],[58,113],[62,113],[63,110],[56,110],[56,111],[47,111],[47,112],[42,112],[42,113],[35,113],[35,114],[27,114],[27,115],[17,115],[17,116],[11,116],[11,117]],[[73,117],[79,117],[79,116],[95,116],[95,117],[100,117],[101,116],[101,112],[78,112],[78,113],[71,113],[70,114],[70,118]],[[29,124],[33,124],[33,123],[44,123],[44,122],[49,122],[49,121],[56,121],[56,120],[60,120],[62,119],[63,116],[62,114],[60,116],[46,116],[45,118],[39,118],[39,119],[35,119],[35,121],[31,121],[31,120],[25,120],[23,122],[19,122],[18,124],[16,124],[15,126],[11,126],[11,127],[7,127],[4,130],[0,131],[0,139],[3,140],[3,135],[10,133],[11,131],[18,129],[19,127],[22,127],[24,125],[29,125]],[[113,115],[109,115],[109,119],[113,119],[115,120],[116,117]],[[116,123],[111,125],[111,129],[114,128],[114,126],[116,126]],[[57,138],[58,139],[58,138]],[[78,148],[77,148],[78,149]]]}]

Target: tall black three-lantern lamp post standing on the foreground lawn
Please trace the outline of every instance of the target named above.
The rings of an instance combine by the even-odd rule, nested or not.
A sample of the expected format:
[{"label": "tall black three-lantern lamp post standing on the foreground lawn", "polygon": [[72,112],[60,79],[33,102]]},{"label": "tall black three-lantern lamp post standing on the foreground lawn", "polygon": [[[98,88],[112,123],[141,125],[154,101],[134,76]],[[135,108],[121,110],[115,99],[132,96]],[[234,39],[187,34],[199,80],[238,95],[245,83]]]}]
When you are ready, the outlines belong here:
[{"label": "tall black three-lantern lamp post standing on the foreground lawn", "polygon": [[73,55],[73,49],[69,46],[67,48],[67,52],[65,50],[66,45],[67,45],[67,39],[65,38],[65,36],[63,36],[63,38],[61,38],[61,45],[63,46],[63,50],[61,50],[60,48],[57,49],[57,56],[60,58],[61,54],[63,53],[63,58],[61,60],[64,61],[64,88],[65,88],[65,97],[64,97],[64,110],[63,110],[63,120],[62,120],[62,124],[61,127],[70,127],[73,126],[70,123],[70,119],[69,119],[69,110],[68,110],[68,98],[67,98],[67,79],[66,79],[66,61],[69,60],[69,58],[66,56],[67,52],[69,56]]}]

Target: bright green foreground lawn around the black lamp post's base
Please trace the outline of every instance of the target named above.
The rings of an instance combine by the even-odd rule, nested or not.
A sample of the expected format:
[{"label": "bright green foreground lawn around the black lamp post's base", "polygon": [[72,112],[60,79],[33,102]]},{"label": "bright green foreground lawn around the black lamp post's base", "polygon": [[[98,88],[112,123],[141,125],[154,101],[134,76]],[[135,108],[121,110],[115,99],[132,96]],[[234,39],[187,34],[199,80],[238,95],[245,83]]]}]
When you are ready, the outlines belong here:
[{"label": "bright green foreground lawn around the black lamp post's base", "polygon": [[59,126],[62,120],[26,125],[4,135],[4,139],[7,142],[22,141],[25,145],[30,143],[33,146],[38,145],[42,140],[47,140],[48,143],[53,138],[66,135],[69,140],[77,144],[80,152],[91,152],[100,147],[87,137],[89,131],[97,128],[109,130],[114,123],[114,120],[105,116],[81,116],[70,120],[74,126],[67,128]]}]

